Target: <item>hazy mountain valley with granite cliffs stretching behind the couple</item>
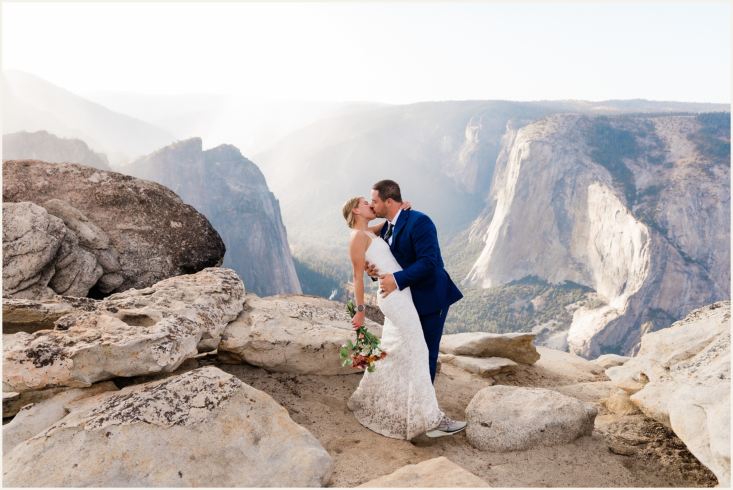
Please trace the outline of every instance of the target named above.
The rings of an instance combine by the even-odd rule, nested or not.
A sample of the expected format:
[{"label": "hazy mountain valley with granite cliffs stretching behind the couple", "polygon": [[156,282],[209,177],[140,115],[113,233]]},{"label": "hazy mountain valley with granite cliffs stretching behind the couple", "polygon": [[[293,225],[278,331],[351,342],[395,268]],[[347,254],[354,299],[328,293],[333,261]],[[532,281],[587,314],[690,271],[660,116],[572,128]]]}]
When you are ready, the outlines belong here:
[{"label": "hazy mountain valley with granite cliffs stretching behind the couple", "polygon": [[[730,296],[724,104],[256,107],[119,92],[89,94],[94,103],[21,72],[4,83],[19,108],[4,112],[4,158],[109,164],[162,183],[207,216],[226,244],[224,266],[259,296],[346,300],[340,208],[381,178],[397,180],[438,227],[465,295],[446,333],[532,331],[538,345],[591,358],[631,354],[644,332]],[[263,150],[245,158],[236,145],[174,142],[195,131],[204,144],[229,138]],[[73,137],[81,141],[63,139]],[[369,281],[367,294],[375,303]]]}]

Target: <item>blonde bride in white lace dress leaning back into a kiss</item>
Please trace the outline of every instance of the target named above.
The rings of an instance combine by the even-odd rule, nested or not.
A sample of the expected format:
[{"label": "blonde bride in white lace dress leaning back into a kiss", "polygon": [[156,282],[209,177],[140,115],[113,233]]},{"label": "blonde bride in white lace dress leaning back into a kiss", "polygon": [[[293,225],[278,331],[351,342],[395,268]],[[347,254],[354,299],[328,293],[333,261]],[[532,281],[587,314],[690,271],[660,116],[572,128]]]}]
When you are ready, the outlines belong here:
[{"label": "blonde bride in white lace dress leaning back into a kiss", "polygon": [[[361,306],[364,304],[364,261],[369,260],[386,274],[402,268],[387,242],[375,234],[379,233],[382,224],[369,227],[369,221],[377,216],[364,197],[348,200],[342,211],[353,230],[349,255],[354,268],[354,296],[359,307],[352,324],[358,329],[364,323],[364,307]],[[348,407],[364,427],[394,439],[412,439],[437,428],[445,418],[438,409],[430,381],[427,344],[410,288],[394,290],[386,298],[377,295],[377,299],[384,313],[380,347],[387,356],[377,362],[373,373],[364,373]]]}]

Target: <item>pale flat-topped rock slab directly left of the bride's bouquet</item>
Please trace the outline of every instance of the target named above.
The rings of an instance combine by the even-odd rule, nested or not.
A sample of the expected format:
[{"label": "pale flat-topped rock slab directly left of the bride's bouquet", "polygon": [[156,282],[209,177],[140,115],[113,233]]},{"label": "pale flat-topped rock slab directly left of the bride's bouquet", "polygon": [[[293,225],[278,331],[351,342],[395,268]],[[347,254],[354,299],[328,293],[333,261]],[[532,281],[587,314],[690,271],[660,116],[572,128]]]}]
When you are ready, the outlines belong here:
[{"label": "pale flat-topped rock slab directly left of the bride's bouquet", "polygon": [[[346,309],[334,310],[306,302],[248,298],[218,345],[219,359],[247,362],[268,371],[332,376],[359,373],[342,367],[339,351],[354,339]],[[382,326],[365,319],[377,337]]]}]

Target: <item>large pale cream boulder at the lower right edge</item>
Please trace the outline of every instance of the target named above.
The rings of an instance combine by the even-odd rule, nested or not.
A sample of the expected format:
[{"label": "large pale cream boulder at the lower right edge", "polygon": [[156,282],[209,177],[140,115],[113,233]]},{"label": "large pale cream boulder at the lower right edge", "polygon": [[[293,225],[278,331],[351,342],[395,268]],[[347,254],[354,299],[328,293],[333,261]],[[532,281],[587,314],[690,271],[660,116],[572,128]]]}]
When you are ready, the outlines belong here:
[{"label": "large pale cream boulder at the lower right edge", "polygon": [[638,356],[606,370],[641,412],[685,442],[721,486],[731,481],[730,312],[730,301],[693,310],[644,335]]}]

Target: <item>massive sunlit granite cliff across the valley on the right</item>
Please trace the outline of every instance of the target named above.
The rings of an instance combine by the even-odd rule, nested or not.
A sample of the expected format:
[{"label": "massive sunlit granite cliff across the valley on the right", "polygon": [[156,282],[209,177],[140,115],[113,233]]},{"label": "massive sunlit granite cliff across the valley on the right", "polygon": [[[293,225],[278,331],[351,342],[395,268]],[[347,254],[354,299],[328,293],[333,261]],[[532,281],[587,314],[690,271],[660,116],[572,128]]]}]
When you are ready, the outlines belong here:
[{"label": "massive sunlit granite cliff across the valley on the right", "polygon": [[576,310],[567,332],[586,357],[632,353],[642,334],[728,299],[730,164],[700,150],[701,129],[692,116],[576,114],[508,126],[464,284],[537,275],[594,288],[608,304]]}]

